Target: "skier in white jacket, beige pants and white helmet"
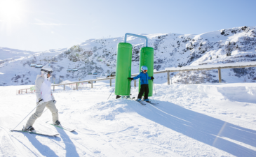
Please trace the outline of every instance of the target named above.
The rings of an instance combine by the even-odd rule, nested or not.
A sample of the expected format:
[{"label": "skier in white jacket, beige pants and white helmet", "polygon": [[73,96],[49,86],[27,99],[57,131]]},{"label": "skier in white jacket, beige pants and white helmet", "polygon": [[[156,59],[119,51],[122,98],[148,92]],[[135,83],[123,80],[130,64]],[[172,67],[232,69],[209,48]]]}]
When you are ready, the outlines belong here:
[{"label": "skier in white jacket, beige pants and white helmet", "polygon": [[33,128],[33,124],[37,118],[41,117],[45,107],[48,107],[53,116],[53,124],[60,126],[58,117],[58,110],[55,106],[56,100],[50,89],[50,75],[53,73],[53,69],[48,66],[41,68],[41,75],[36,76],[35,87],[36,87],[36,112],[29,117],[26,126],[22,130],[32,131],[36,133]]}]

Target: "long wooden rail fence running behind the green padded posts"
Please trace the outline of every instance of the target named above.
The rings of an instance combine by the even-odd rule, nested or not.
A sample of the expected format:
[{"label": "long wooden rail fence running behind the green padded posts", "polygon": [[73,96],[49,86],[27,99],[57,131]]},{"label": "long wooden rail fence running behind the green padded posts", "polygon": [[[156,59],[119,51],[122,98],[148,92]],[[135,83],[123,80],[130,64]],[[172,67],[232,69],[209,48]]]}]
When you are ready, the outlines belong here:
[{"label": "long wooden rail fence running behind the green padded posts", "polygon": [[[247,62],[246,62],[247,63]],[[248,62],[249,64],[250,62]],[[219,66],[219,67],[212,67],[212,68],[175,68],[173,70],[161,70],[161,71],[156,71],[154,72],[154,74],[159,74],[159,73],[167,73],[167,84],[170,85],[170,72],[180,72],[180,71],[192,71],[192,70],[213,70],[213,69],[217,69],[218,70],[218,74],[219,74],[219,83],[222,83],[222,75],[221,75],[221,69],[222,68],[249,68],[249,67],[255,67],[256,63],[254,62],[254,64],[252,65],[248,65],[248,66]],[[203,66],[202,66],[203,67]],[[139,73],[137,74],[133,74],[131,76],[136,76],[139,75]],[[68,82],[68,83],[64,83],[64,84],[53,84],[53,91],[55,91],[55,86],[63,86],[63,89],[65,90],[65,85],[67,84],[76,84],[76,90],[79,89],[78,84],[79,83],[84,83],[84,82],[90,82],[91,84],[91,88],[93,88],[93,82],[96,81],[102,81],[102,80],[109,80],[109,85],[110,87],[112,87],[112,79],[115,79],[116,77],[105,77],[105,78],[98,78],[98,79],[93,79],[93,80],[84,80],[84,81],[79,81],[79,82]],[[136,87],[136,80],[134,80],[134,86]],[[26,94],[27,94],[27,89],[20,89],[18,91],[18,94],[22,94],[22,91],[26,90]]]}]

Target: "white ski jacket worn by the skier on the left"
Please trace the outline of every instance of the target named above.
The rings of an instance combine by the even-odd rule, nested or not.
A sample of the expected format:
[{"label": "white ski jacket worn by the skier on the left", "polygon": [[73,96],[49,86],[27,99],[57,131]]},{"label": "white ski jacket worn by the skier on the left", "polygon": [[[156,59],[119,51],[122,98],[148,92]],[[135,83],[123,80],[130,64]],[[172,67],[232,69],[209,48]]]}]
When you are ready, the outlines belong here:
[{"label": "white ski jacket worn by the skier on the left", "polygon": [[36,87],[36,102],[43,99],[44,102],[55,100],[53,92],[51,91],[50,79],[47,75],[37,75],[35,81]]}]

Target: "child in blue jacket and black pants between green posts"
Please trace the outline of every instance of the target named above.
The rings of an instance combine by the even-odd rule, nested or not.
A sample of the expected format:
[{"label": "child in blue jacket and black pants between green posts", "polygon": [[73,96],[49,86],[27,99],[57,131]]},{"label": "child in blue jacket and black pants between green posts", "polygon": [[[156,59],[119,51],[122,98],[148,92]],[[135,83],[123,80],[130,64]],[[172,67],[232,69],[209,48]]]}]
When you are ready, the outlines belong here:
[{"label": "child in blue jacket and black pants between green posts", "polygon": [[135,77],[128,77],[130,80],[136,80],[140,78],[140,93],[137,96],[137,100],[141,101],[142,100],[142,95],[144,93],[144,100],[149,102],[149,80],[154,80],[154,77],[147,75],[147,66],[142,66],[141,67],[142,72],[140,72],[139,75]]}]

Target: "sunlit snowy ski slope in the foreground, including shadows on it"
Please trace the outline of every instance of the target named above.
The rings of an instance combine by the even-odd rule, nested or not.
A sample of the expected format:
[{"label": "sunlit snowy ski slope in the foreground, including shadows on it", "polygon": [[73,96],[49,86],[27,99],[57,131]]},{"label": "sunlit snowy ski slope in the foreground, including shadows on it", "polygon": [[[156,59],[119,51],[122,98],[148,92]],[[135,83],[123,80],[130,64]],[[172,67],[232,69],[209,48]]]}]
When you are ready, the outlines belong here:
[{"label": "sunlit snowy ski slope in the foreground, including shadows on it", "polygon": [[0,87],[0,156],[256,156],[255,83],[155,84],[159,105],[145,106],[107,100],[114,87],[105,82],[58,87],[60,122],[76,131],[47,125],[48,110],[34,124],[58,137],[10,131],[36,106],[34,94],[15,95],[27,87]]}]

